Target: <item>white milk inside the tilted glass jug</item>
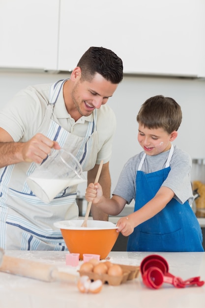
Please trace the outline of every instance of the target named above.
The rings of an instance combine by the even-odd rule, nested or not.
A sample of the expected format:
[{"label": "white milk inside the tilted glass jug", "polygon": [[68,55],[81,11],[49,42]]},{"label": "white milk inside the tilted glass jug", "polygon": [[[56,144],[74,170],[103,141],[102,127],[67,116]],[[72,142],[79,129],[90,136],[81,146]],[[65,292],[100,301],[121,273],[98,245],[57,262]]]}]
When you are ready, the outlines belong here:
[{"label": "white milk inside the tilted glass jug", "polygon": [[42,179],[29,177],[27,183],[32,192],[43,202],[48,203],[66,187],[78,185],[85,182],[84,178],[75,177],[73,179]]}]

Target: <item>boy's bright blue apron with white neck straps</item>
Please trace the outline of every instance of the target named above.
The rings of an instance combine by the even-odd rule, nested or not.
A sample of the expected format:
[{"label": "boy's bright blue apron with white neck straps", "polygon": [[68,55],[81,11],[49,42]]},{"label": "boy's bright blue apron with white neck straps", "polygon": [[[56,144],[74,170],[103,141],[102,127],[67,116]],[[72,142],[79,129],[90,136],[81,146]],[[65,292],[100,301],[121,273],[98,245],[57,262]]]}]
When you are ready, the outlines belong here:
[{"label": "boy's bright blue apron with white neck straps", "polygon": [[[171,150],[167,164],[174,148]],[[171,170],[167,165],[162,170],[148,174],[139,169],[136,176],[135,212],[155,196]],[[204,251],[202,240],[200,224],[189,203],[180,204],[173,198],[157,215],[135,227],[128,238],[127,251]]]}]

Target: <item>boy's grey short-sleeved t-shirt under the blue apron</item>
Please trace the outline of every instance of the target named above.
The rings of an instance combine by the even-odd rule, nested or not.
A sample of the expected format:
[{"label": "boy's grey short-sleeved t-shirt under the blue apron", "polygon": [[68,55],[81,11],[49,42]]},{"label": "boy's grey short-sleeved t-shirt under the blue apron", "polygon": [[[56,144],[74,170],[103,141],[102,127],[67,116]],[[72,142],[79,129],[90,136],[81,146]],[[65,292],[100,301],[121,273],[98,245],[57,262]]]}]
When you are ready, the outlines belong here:
[{"label": "boy's grey short-sleeved t-shirt under the blue apron", "polygon": [[[141,171],[151,173],[165,168],[169,151],[158,155],[146,155]],[[144,152],[131,157],[124,165],[117,186],[113,194],[124,198],[129,204],[136,196],[136,175]],[[175,193],[176,200],[183,204],[188,201],[191,205],[193,202],[193,194],[191,187],[191,157],[186,152],[174,147],[174,153],[170,161],[171,170],[167,179],[162,186],[169,187]]]}]

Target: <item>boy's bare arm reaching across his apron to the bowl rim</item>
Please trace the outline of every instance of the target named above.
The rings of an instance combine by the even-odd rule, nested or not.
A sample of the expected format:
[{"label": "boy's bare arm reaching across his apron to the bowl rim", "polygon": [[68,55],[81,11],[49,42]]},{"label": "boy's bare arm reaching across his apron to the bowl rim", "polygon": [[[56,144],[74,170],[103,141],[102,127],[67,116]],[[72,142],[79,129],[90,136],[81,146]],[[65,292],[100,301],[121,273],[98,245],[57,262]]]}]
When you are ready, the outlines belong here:
[{"label": "boy's bare arm reaching across his apron to the bowl rim", "polygon": [[147,202],[141,209],[126,217],[120,218],[117,222],[117,231],[121,232],[124,236],[130,235],[136,226],[163,210],[174,195],[172,189],[162,186],[154,198]]}]

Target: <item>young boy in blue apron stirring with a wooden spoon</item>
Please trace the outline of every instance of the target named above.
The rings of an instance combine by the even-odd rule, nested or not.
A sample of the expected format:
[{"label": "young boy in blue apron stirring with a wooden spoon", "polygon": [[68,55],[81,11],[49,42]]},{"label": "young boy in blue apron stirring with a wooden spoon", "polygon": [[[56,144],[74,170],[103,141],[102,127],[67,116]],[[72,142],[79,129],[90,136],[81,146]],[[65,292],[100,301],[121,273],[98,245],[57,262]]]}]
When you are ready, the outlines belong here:
[{"label": "young boy in blue apron stirring with a wooden spoon", "polygon": [[147,99],[137,116],[143,152],[127,161],[113,197],[105,198],[99,183],[88,185],[87,201],[108,215],[118,215],[135,199],[134,213],[117,222],[118,232],[129,236],[128,251],[204,251],[202,231],[190,207],[191,158],[172,145],[181,120],[174,99]]}]

